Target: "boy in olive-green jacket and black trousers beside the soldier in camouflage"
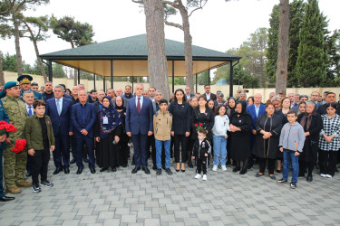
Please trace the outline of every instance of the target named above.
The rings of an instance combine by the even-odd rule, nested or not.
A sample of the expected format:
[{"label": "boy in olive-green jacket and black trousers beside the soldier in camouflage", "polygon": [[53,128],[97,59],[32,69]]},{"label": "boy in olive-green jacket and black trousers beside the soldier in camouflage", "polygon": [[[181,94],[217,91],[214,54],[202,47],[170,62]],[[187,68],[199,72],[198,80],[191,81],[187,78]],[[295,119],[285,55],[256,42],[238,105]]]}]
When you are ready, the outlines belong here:
[{"label": "boy in olive-green jacket and black trousers beside the soldier in camouflage", "polygon": [[54,136],[51,119],[44,114],[46,104],[37,99],[33,103],[34,115],[26,118],[24,136],[27,142],[28,154],[32,155],[32,189],[34,193],[40,193],[39,174],[41,185],[53,187],[47,180],[48,162],[50,150],[54,150]]}]

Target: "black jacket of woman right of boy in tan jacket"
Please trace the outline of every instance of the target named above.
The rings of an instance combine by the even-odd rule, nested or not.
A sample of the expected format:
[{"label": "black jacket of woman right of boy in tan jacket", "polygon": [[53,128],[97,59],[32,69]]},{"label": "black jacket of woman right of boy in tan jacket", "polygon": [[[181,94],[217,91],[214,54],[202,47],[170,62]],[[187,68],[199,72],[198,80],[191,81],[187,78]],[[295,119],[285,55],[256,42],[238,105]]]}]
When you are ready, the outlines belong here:
[{"label": "black jacket of woman right of boy in tan jacket", "polygon": [[183,102],[179,105],[176,101],[173,101],[168,110],[172,114],[171,131],[175,135],[185,135],[186,132],[190,132],[191,107],[189,103]]}]

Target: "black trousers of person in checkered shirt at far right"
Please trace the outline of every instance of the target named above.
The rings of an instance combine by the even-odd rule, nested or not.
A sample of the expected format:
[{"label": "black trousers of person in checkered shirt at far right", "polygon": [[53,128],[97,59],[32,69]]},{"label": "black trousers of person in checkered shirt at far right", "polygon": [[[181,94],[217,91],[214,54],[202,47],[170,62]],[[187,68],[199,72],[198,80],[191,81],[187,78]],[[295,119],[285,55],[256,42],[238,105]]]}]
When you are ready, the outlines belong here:
[{"label": "black trousers of person in checkered shirt at far right", "polygon": [[330,174],[334,176],[337,155],[337,151],[323,151],[319,149],[320,174]]}]

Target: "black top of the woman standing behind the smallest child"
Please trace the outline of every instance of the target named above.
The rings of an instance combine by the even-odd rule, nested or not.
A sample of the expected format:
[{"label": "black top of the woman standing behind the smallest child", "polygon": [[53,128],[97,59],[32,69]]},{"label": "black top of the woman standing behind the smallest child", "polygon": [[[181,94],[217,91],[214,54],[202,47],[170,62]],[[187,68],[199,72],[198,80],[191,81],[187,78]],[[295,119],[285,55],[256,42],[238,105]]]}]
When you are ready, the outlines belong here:
[{"label": "black top of the woman standing behind the smallest child", "polygon": [[214,127],[215,122],[215,115],[212,112],[211,108],[206,108],[205,113],[200,113],[199,108],[194,108],[191,112],[191,129],[192,129],[192,139],[196,140],[197,137],[197,131],[195,125],[199,125],[199,123],[203,124],[202,127],[206,127],[208,131],[207,137],[209,140],[212,140],[212,133],[211,129]]}]

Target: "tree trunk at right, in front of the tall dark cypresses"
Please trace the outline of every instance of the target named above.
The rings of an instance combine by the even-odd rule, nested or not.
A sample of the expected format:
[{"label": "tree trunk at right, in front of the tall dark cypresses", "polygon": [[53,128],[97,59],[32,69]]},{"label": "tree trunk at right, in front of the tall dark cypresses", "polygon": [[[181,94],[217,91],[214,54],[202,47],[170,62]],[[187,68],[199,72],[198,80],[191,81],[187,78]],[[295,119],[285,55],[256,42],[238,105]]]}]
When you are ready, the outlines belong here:
[{"label": "tree trunk at right, in front of the tall dark cypresses", "polygon": [[277,51],[277,93],[286,96],[289,58],[289,0],[280,0],[278,51]]}]

